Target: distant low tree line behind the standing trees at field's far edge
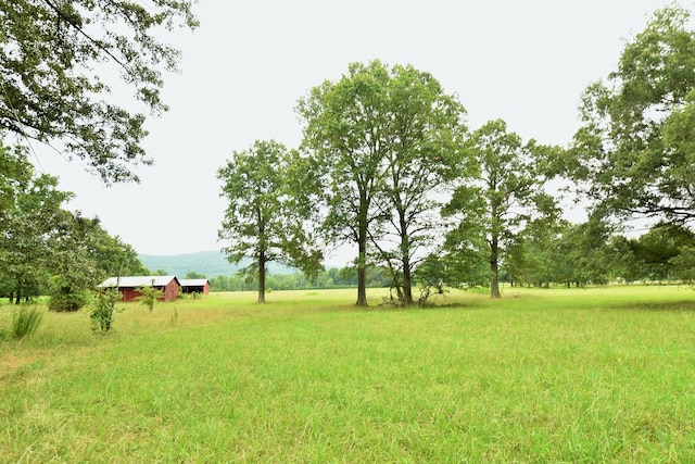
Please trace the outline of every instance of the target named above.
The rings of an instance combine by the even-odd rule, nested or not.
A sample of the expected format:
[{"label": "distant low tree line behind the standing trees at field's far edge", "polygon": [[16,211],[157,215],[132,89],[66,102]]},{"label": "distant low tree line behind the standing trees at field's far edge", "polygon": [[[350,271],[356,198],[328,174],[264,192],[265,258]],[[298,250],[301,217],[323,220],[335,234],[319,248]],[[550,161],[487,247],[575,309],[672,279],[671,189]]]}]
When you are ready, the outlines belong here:
[{"label": "distant low tree line behind the standing trees at field's far edge", "polygon": [[[500,267],[500,281],[508,286],[549,287],[604,285],[609,281],[673,283],[695,278],[695,234],[680,225],[659,223],[639,237],[616,235],[605,223],[590,220],[582,224],[559,221],[554,229],[532,222],[506,249]],[[438,259],[418,268],[420,293],[450,278],[455,271]],[[469,253],[467,285],[488,285],[490,264],[485,250]],[[425,269],[426,268],[426,269]],[[460,269],[457,272],[462,272]],[[166,273],[165,273],[166,274]],[[186,278],[204,278],[188,273]],[[433,279],[433,280],[432,280]],[[441,280],[440,280],[441,279]],[[251,291],[258,287],[257,275],[220,275],[210,279],[212,291]],[[357,276],[352,267],[331,267],[313,279],[303,273],[269,274],[267,290],[354,288]],[[367,288],[392,285],[388,267],[367,268]],[[432,288],[433,289],[433,288]]]}]

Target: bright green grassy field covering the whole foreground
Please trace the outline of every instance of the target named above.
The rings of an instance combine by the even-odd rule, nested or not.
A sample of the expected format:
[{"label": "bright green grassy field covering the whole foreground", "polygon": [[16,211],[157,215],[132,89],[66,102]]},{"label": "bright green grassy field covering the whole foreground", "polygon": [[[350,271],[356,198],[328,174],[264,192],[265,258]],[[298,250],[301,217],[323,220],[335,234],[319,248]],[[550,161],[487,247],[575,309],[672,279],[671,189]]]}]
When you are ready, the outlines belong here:
[{"label": "bright green grassy field covering the whole foreground", "polygon": [[47,313],[0,343],[0,462],[695,461],[692,288],[378,292]]}]

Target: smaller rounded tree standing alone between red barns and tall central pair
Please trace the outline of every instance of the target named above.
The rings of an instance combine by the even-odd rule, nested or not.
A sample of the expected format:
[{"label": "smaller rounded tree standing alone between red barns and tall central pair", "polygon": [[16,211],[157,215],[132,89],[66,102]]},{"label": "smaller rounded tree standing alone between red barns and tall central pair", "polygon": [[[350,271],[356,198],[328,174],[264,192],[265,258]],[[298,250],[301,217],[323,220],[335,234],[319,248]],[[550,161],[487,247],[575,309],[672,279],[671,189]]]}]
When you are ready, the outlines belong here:
[{"label": "smaller rounded tree standing alone between red barns and tall central pair", "polygon": [[257,140],[244,151],[235,151],[217,178],[229,201],[220,240],[231,263],[251,258],[244,268],[258,278],[258,302],[265,302],[267,264],[271,261],[299,267],[309,275],[320,268],[323,254],[313,248],[306,222],[311,220],[313,170],[294,150],[276,141]]}]

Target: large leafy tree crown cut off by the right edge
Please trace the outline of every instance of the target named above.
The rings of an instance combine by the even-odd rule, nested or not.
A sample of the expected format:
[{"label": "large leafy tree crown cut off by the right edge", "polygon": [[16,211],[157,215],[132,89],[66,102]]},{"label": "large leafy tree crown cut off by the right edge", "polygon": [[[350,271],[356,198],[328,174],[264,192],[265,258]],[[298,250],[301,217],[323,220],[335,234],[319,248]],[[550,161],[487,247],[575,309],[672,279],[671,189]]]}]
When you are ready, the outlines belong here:
[{"label": "large leafy tree crown cut off by the right edge", "polygon": [[587,87],[564,167],[596,211],[695,218],[695,33],[669,7],[631,39],[606,81]]}]

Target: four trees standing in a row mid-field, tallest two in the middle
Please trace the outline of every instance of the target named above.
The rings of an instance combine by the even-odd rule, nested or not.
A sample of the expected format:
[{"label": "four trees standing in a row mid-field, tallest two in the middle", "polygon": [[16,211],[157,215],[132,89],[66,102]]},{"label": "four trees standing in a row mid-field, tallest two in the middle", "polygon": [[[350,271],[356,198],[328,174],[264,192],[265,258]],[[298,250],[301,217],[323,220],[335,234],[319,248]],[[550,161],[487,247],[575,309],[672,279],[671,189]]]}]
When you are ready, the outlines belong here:
[{"label": "four trees standing in a row mid-field, tallest two in the middle", "polygon": [[523,143],[503,121],[469,134],[456,97],[413,66],[354,63],[301,99],[298,113],[299,150],[256,141],[218,171],[229,199],[219,237],[230,261],[253,256],[247,271],[260,302],[267,261],[312,275],[321,250],[345,242],[358,250],[358,305],[370,266],[388,269],[399,304],[413,304],[416,271],[432,250],[459,269],[450,284],[477,284],[478,269],[475,278],[462,269],[481,247],[500,297],[503,242],[534,217],[558,215],[534,167],[553,148]]}]

